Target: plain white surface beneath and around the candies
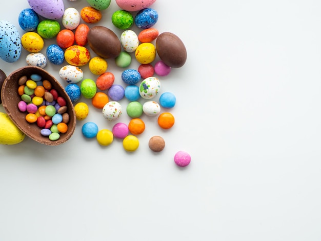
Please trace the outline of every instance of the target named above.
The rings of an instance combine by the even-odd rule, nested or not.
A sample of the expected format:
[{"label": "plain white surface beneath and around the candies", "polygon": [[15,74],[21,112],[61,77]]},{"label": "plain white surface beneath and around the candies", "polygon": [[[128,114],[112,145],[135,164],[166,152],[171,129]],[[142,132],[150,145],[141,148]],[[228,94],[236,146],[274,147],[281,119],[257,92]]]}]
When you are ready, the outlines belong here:
[{"label": "plain white surface beneath and around the candies", "polygon": [[[117,139],[101,147],[81,127],[112,124],[90,107],[61,146],[30,138],[0,146],[0,240],[321,240],[321,3],[208,3],[151,6],[154,27],[179,36],[188,53],[183,67],[159,78],[162,92],[176,96],[172,129],[143,116],[135,152]],[[6,6],[1,19],[23,34],[18,14],[27,0]],[[113,0],[98,25],[120,34],[111,23],[118,9]],[[1,69],[26,65],[26,55],[1,60]],[[107,62],[121,83],[123,70]],[[58,79],[61,67],[46,70]],[[119,121],[129,121],[126,112]],[[162,152],[149,150],[152,135],[164,137]],[[190,153],[188,167],[174,164],[178,150]]]}]

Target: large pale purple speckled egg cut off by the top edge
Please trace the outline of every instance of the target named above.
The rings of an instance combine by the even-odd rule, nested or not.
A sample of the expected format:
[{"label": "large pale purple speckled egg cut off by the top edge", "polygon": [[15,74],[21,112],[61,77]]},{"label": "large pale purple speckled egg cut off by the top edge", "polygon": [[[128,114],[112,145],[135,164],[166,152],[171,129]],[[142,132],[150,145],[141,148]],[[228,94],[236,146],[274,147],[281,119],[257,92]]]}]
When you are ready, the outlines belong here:
[{"label": "large pale purple speckled egg cut off by the top edge", "polygon": [[63,0],[28,0],[28,3],[37,14],[48,19],[61,18],[65,11]]}]

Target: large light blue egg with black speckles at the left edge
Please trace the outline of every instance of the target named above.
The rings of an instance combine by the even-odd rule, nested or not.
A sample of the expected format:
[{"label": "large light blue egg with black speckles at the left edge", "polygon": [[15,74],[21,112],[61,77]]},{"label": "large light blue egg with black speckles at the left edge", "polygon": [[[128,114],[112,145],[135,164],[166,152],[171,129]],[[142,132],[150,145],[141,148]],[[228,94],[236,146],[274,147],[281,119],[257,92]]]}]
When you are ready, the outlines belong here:
[{"label": "large light blue egg with black speckles at the left edge", "polygon": [[0,21],[0,58],[8,63],[16,62],[21,55],[21,37],[9,21]]}]

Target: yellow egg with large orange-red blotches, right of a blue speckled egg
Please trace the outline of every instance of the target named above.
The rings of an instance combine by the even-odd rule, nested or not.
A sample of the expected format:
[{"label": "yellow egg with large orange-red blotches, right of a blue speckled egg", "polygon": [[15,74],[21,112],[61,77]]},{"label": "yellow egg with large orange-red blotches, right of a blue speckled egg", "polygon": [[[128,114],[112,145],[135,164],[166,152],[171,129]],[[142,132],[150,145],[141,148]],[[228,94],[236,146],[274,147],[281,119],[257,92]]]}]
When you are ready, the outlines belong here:
[{"label": "yellow egg with large orange-red blotches, right of a blue speckled egg", "polygon": [[65,60],[74,66],[83,66],[90,61],[89,50],[80,45],[73,45],[65,50]]}]

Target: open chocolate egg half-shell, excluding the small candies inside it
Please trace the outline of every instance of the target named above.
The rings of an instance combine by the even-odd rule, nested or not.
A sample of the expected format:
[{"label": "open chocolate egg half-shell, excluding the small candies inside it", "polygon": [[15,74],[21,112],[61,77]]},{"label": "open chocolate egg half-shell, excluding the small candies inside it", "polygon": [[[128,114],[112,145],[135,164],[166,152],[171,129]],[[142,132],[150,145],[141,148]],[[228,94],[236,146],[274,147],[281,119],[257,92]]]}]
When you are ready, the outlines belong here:
[{"label": "open chocolate egg half-shell, excluding the small candies inside it", "polygon": [[[26,113],[21,112],[18,109],[18,102],[21,101],[21,96],[18,94],[19,78],[25,75],[31,76],[31,74],[39,74],[42,76],[42,79],[47,79],[51,83],[52,88],[58,92],[58,95],[62,96],[66,100],[67,113],[69,115],[69,122],[67,124],[68,131],[66,133],[60,133],[60,138],[57,140],[50,140],[48,136],[43,136],[41,134],[41,128],[39,128],[35,123],[28,123],[25,119]],[[9,74],[2,86],[1,99],[5,111],[12,119],[14,124],[27,136],[34,139],[38,143],[50,146],[63,144],[67,142],[75,130],[76,116],[71,99],[64,90],[63,86],[57,82],[51,74],[40,67],[25,66]]]}]

